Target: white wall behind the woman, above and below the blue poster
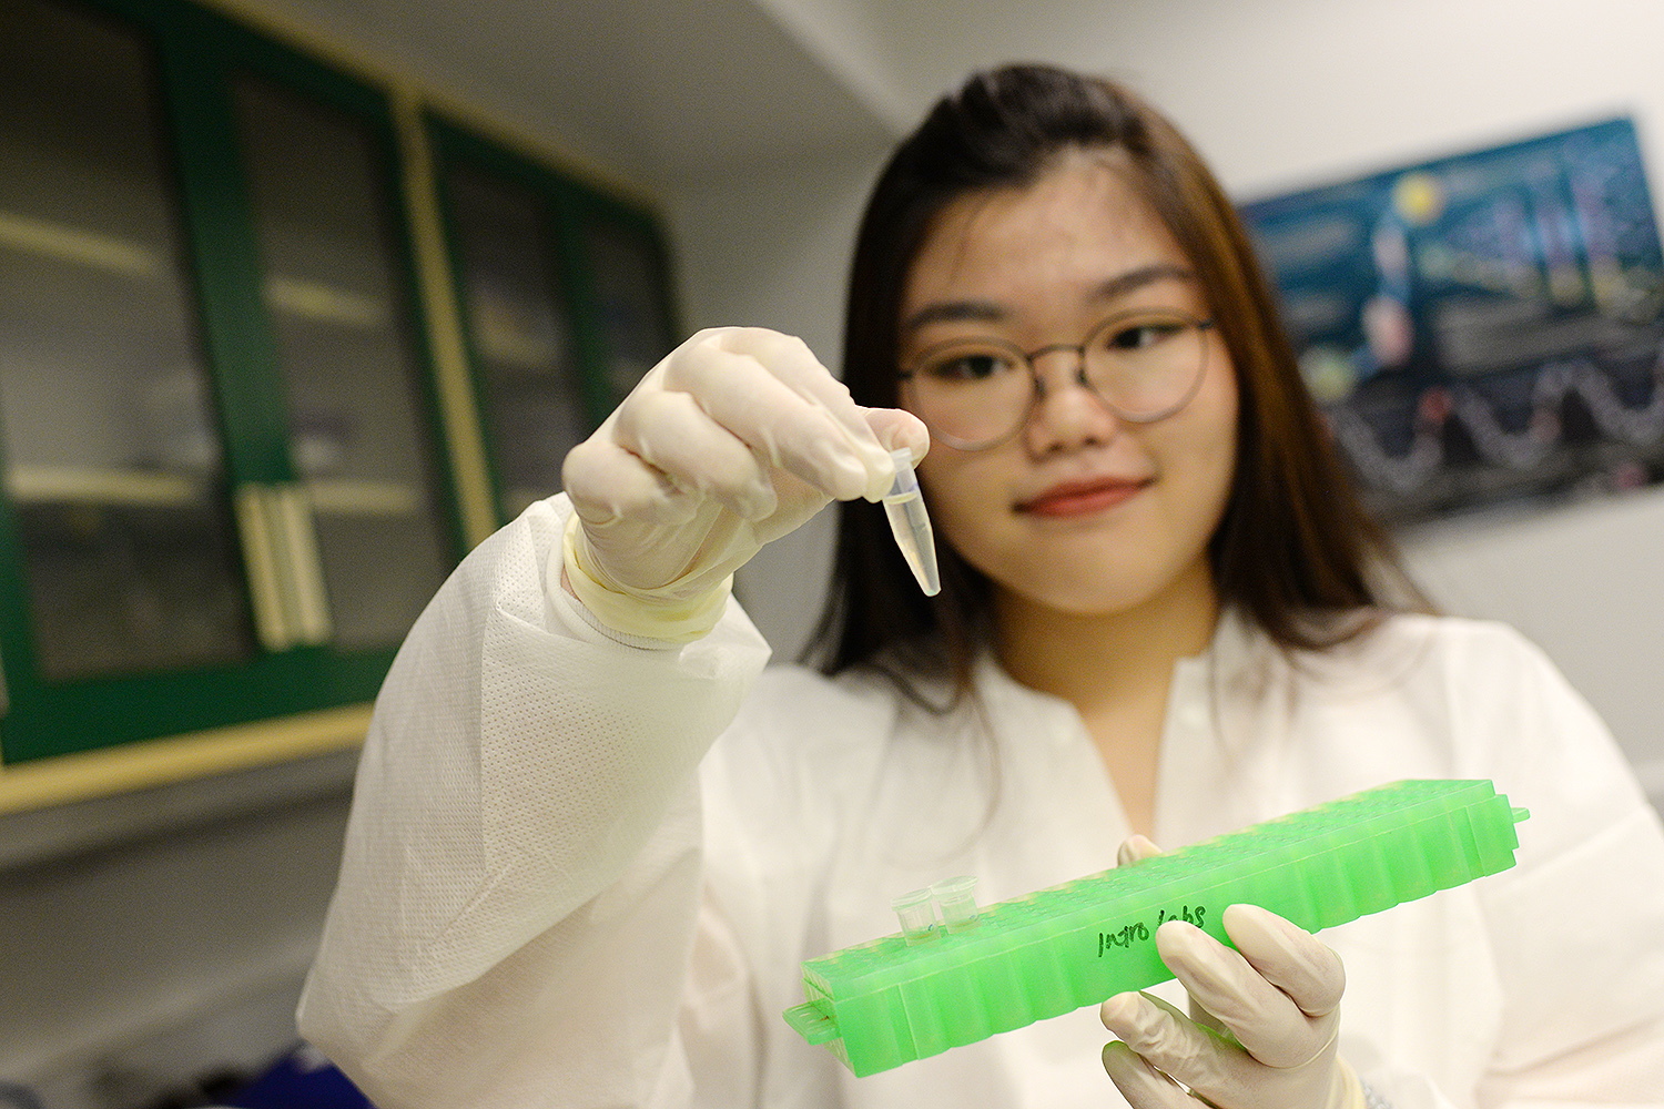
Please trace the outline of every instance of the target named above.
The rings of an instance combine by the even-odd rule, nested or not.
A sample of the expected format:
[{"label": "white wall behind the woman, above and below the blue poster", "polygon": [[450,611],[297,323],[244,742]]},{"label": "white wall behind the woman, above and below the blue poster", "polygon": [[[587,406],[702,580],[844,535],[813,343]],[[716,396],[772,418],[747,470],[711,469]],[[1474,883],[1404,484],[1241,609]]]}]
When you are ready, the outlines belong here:
[{"label": "white wall behind the woman, above and below the blue poster", "polygon": [[[920,75],[945,86],[1007,55],[1108,71],[1160,103],[1241,200],[1614,113],[1636,118],[1654,195],[1664,186],[1664,5],[1646,0],[998,5],[978,25],[983,57],[890,60],[920,110]],[[835,328],[847,254],[834,243],[857,208],[784,178],[701,196],[697,218],[679,221],[696,321]],[[759,249],[770,258],[762,289],[742,276]],[[824,562],[804,547],[747,582],[779,657],[802,642],[804,594],[822,580],[799,570]],[[1664,796],[1664,494],[1471,519],[1406,535],[1406,547],[1448,609],[1511,620],[1543,643]]]}]

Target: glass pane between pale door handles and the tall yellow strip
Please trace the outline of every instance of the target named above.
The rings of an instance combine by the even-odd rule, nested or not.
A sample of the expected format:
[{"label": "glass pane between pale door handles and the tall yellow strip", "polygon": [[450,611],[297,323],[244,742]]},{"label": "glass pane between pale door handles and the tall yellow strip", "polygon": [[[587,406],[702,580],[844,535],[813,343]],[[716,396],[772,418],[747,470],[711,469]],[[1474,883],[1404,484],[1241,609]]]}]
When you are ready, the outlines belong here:
[{"label": "glass pane between pale door handles and the tall yellow strip", "polygon": [[271,495],[288,507],[290,557],[318,562],[301,638],[394,645],[439,587],[449,544],[391,181],[356,116],[258,76],[233,95],[300,479]]}]

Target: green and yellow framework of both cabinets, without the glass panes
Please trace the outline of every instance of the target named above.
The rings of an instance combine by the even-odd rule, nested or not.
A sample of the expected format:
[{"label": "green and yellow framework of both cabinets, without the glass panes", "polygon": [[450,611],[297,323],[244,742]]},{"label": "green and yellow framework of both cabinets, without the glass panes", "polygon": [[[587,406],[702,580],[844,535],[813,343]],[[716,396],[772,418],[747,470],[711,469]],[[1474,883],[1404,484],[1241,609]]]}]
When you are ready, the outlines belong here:
[{"label": "green and yellow framework of both cabinets, without the glass panes", "polygon": [[[607,381],[614,352],[607,349],[597,283],[582,246],[586,221],[644,236],[666,338],[681,336],[664,221],[651,203],[606,175],[531,153],[536,141],[504,135],[456,105],[439,108],[419,85],[359,65],[291,27],[261,23],[235,3],[226,7],[228,0],[210,0],[208,7],[200,0],[55,2],[133,32],[150,52],[160,141],[178,205],[181,273],[225,452],[216,497],[228,512],[240,494],[251,504],[283,502],[281,494],[295,489],[298,477],[273,308],[263,296],[260,238],[238,146],[236,73],[341,110],[373,136],[384,221],[396,251],[396,311],[406,321],[416,366],[419,436],[434,471],[434,510],[453,562],[506,524],[508,512],[491,436],[479,416],[479,359],[463,311],[454,228],[444,214],[448,160],[468,160],[549,205],[554,234],[546,249],[567,294],[589,427],[621,394]],[[0,441],[0,462],[3,457]],[[42,472],[23,477],[7,471],[20,489],[0,495],[0,813],[323,755],[363,738],[369,702],[396,645],[356,652],[316,643],[256,647],[246,663],[236,665],[42,680],[18,504],[65,495],[92,504],[100,495],[165,497],[178,490],[166,489],[165,481],[138,482],[146,487],[136,489],[128,476],[35,469]],[[95,489],[100,481],[106,482],[103,492]],[[111,494],[110,481],[125,481],[125,492]],[[256,495],[248,497],[250,490]],[[243,552],[245,587],[251,570]]]}]

